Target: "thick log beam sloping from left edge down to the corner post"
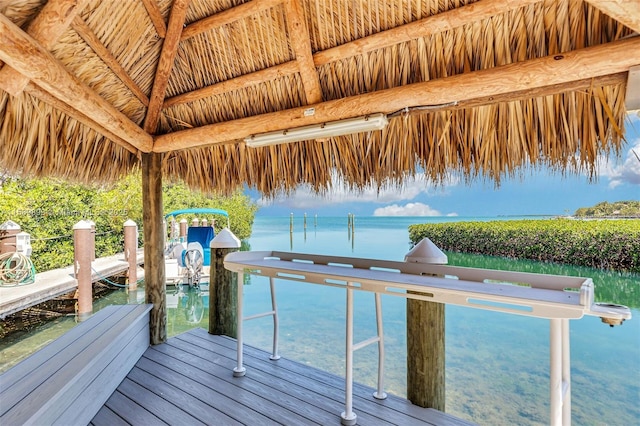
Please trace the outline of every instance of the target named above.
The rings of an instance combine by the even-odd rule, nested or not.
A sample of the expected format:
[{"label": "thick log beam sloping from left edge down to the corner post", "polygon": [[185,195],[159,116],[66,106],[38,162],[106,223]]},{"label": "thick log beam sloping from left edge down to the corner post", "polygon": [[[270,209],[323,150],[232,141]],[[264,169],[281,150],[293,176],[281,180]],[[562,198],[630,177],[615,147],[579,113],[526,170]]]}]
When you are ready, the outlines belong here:
[{"label": "thick log beam sloping from left edge down to the corner post", "polygon": [[3,14],[0,14],[0,60],[136,149],[151,151],[153,140],[148,133],[70,74],[47,49]]}]

